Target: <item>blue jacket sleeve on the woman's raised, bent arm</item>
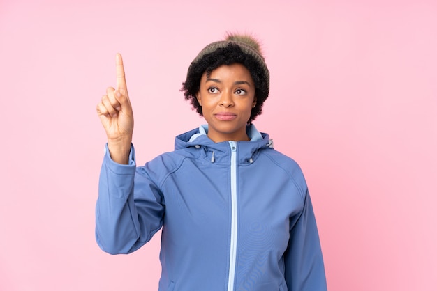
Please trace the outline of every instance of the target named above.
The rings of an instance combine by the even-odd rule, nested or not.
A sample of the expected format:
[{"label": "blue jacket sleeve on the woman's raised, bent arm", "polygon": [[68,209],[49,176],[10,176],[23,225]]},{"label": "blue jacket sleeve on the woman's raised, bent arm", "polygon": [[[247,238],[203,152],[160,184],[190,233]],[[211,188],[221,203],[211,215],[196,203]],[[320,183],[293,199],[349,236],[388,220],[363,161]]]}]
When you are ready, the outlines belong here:
[{"label": "blue jacket sleeve on the woman's raised, bent arm", "polygon": [[110,158],[108,145],[98,183],[96,241],[107,253],[131,253],[161,228],[165,206],[158,187],[135,166],[132,147],[129,164]]}]

